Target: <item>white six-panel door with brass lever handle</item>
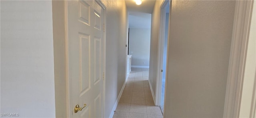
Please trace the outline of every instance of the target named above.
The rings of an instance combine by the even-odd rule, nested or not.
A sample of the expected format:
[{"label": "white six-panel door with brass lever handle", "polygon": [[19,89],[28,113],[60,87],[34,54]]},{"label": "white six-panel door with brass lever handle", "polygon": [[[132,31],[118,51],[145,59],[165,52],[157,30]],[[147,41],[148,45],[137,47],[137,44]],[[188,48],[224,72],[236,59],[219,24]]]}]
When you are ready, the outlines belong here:
[{"label": "white six-panel door with brass lever handle", "polygon": [[72,118],[103,117],[104,10],[99,3],[94,0],[67,2]]}]

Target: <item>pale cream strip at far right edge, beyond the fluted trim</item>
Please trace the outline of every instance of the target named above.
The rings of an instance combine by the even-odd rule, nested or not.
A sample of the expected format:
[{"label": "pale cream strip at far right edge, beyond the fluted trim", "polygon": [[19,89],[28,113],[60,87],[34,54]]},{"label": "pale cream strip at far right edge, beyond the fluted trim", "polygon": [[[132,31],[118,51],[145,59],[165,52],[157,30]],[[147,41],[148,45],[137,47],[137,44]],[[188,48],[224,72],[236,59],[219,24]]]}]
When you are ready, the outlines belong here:
[{"label": "pale cream strip at far right edge, beyond the fluted trim", "polygon": [[[244,71],[244,83],[242,90],[242,99],[240,106],[240,118],[249,118],[251,112],[251,106],[253,104],[253,92],[255,92],[254,85],[256,77],[256,2],[254,1],[254,6],[252,10],[252,20],[250,26],[250,36],[248,41],[247,55],[246,55],[246,65]],[[254,103],[255,104],[255,103]]]}]

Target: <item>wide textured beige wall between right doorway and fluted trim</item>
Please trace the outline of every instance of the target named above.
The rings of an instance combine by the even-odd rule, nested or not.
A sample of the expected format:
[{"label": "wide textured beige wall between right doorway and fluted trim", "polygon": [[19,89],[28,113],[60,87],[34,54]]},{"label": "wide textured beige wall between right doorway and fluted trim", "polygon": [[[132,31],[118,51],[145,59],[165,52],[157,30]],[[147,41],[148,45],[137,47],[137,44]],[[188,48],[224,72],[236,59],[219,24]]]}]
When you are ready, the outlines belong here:
[{"label": "wide textured beige wall between right doorway and fluted trim", "polygon": [[235,1],[172,1],[164,117],[222,118]]}]

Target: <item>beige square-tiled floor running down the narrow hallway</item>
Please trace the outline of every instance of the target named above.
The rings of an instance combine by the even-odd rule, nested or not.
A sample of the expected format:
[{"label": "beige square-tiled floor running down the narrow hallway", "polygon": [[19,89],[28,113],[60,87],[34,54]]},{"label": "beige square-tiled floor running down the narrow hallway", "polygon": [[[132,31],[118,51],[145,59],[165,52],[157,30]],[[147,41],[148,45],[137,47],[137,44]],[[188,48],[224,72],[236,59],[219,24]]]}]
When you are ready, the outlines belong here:
[{"label": "beige square-tiled floor running down the narrow hallway", "polygon": [[163,118],[154,106],[148,84],[148,68],[132,68],[113,118]]}]

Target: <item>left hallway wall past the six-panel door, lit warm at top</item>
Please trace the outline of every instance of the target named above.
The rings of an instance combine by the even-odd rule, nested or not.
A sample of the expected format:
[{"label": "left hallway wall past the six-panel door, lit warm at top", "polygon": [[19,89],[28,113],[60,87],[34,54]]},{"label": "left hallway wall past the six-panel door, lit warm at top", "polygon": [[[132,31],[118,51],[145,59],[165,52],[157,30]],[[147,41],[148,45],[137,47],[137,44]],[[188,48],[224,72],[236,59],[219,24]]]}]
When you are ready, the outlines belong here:
[{"label": "left hallway wall past the six-panel door, lit warm at top", "polygon": [[128,14],[122,0],[103,0],[107,7],[106,19],[106,99],[108,118],[126,79],[128,47]]}]

